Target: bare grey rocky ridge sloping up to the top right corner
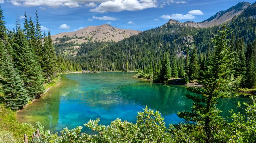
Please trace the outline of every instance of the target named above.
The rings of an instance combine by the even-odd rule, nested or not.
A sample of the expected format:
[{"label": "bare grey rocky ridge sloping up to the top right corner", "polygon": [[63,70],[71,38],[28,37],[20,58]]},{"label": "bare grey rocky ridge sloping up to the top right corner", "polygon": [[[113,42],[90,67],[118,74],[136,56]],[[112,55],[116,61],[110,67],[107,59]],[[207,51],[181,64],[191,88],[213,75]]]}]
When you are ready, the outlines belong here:
[{"label": "bare grey rocky ridge sloping up to the top right corner", "polygon": [[180,25],[189,26],[189,27],[201,27],[201,28],[216,26],[216,25],[220,25],[230,21],[235,16],[241,14],[245,10],[245,8],[247,8],[250,5],[251,3],[248,3],[248,2],[240,2],[237,5],[231,8],[228,8],[227,10],[217,12],[215,15],[208,18],[207,20],[204,20],[203,22],[196,23],[193,21],[187,21],[187,22],[181,23],[176,20],[169,20],[167,24],[180,24]]}]

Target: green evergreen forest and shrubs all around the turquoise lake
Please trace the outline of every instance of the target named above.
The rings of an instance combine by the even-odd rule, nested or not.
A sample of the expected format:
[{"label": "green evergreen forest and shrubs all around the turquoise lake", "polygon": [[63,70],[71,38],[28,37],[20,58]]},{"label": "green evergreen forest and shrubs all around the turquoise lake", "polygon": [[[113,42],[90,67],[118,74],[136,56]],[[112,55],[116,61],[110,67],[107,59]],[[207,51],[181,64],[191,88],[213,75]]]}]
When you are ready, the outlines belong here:
[{"label": "green evergreen forest and shrubs all around the turquoise lake", "polygon": [[[219,98],[234,97],[230,91],[256,87],[256,3],[232,21],[209,28],[182,23],[164,24],[119,42],[54,42],[42,33],[36,21],[25,12],[17,17],[15,29],[5,27],[0,7],[0,141],[30,143],[165,143],[165,142],[256,142],[256,98],[252,104],[238,103],[245,115],[230,112],[226,121],[216,105]],[[67,47],[80,46],[75,54]],[[193,101],[191,111],[181,111],[184,122],[165,125],[158,111],[146,107],[138,112],[137,122],[116,119],[110,125],[100,119],[84,124],[95,135],[81,133],[81,126],[65,128],[60,135],[36,125],[19,123],[15,111],[40,97],[45,88],[59,82],[58,73],[73,71],[138,71],[137,76],[157,83],[181,79],[196,81],[203,87],[186,87],[197,94],[186,95]],[[14,111],[14,112],[13,112]],[[24,141],[20,138],[23,139]],[[18,139],[15,139],[18,138]],[[14,141],[11,141],[14,140]]]}]

